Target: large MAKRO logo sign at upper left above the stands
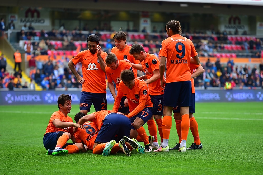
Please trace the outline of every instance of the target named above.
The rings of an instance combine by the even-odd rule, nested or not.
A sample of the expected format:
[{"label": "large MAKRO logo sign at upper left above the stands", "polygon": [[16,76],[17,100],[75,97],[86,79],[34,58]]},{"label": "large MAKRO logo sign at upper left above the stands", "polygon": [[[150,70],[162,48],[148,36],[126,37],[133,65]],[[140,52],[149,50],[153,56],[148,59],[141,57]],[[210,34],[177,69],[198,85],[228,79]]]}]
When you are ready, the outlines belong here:
[{"label": "large MAKRO logo sign at upper left above the stands", "polygon": [[28,8],[25,11],[25,18],[20,18],[20,23],[44,24],[45,19],[40,18],[39,10]]}]

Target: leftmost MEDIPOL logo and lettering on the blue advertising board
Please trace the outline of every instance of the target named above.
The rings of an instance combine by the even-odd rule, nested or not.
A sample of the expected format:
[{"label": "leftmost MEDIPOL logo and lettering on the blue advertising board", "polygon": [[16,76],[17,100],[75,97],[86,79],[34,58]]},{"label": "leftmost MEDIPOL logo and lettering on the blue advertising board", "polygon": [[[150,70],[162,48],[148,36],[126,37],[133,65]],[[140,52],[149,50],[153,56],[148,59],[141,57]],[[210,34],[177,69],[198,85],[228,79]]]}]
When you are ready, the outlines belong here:
[{"label": "leftmost MEDIPOL logo and lettering on the blue advertising board", "polygon": [[31,95],[31,94],[22,94],[22,95],[12,95],[6,94],[5,96],[6,102],[8,104],[12,104],[13,102],[39,102],[41,98],[39,95]]}]

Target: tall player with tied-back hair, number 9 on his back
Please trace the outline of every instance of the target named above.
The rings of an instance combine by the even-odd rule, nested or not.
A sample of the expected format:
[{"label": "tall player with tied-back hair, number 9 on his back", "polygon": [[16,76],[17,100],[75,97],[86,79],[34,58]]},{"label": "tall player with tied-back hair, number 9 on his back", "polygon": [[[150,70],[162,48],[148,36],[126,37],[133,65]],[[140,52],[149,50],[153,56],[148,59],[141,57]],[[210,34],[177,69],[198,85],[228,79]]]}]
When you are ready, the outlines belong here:
[{"label": "tall player with tied-back hair, number 9 on his back", "polygon": [[[190,126],[189,106],[192,105],[190,58],[192,57],[194,64],[197,65],[200,63],[200,60],[193,42],[180,35],[182,29],[179,21],[169,21],[165,26],[165,30],[168,38],[162,41],[159,53],[159,56],[161,56],[160,81],[161,87],[165,89],[163,94],[163,143],[159,149],[154,151],[169,151],[168,144],[172,127],[173,107],[180,106],[182,141],[179,151],[186,152],[186,140]],[[163,75],[166,59],[167,77],[165,80]]]}]

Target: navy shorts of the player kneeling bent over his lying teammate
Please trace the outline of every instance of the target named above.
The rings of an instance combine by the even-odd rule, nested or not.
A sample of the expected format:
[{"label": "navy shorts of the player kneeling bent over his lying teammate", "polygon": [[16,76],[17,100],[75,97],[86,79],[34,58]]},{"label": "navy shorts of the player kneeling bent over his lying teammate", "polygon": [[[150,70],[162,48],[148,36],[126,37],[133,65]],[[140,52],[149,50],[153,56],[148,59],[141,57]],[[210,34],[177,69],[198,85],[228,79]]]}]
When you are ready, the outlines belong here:
[{"label": "navy shorts of the player kneeling bent over his lying teammate", "polygon": [[96,143],[106,143],[111,140],[119,142],[123,136],[130,136],[131,121],[125,115],[110,113],[103,120],[100,132],[95,140]]}]

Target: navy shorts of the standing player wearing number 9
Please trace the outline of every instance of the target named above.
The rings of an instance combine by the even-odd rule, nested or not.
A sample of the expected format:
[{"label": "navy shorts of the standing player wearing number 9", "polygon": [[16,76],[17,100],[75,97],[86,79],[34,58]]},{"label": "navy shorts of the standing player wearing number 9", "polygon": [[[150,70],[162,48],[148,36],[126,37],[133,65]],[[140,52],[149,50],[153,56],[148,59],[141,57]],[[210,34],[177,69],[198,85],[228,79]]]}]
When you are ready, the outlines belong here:
[{"label": "navy shorts of the standing player wearing number 9", "polygon": [[163,106],[191,106],[191,81],[171,82],[165,84]]}]

